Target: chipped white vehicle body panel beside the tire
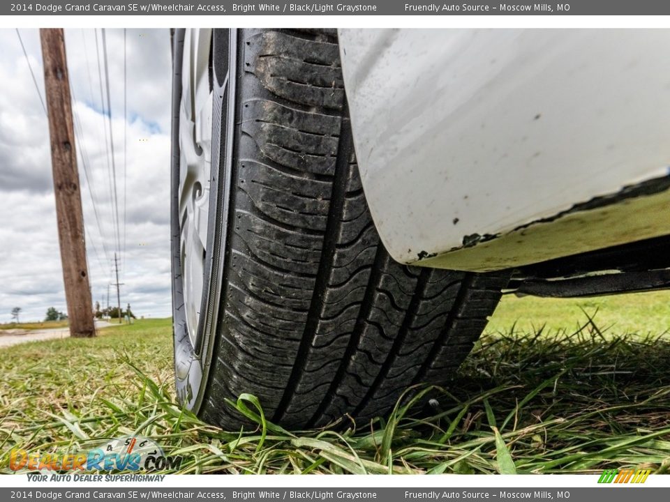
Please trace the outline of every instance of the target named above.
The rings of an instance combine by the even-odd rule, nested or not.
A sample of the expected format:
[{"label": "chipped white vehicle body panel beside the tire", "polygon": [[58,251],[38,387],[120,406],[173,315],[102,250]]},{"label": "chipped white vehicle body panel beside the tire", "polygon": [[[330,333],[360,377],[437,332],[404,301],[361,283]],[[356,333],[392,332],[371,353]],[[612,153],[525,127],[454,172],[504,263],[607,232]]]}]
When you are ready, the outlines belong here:
[{"label": "chipped white vehicle body panel beside the tire", "polygon": [[670,30],[339,37],[394,259],[483,271],[670,234]]}]

